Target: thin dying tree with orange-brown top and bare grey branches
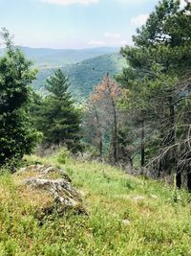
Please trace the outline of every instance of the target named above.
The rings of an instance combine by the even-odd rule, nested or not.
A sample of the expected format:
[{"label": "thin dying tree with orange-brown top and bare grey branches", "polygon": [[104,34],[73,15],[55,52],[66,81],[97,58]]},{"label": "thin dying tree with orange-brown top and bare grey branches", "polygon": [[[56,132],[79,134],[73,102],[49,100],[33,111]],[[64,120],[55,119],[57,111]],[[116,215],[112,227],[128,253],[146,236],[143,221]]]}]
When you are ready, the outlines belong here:
[{"label": "thin dying tree with orange-brown top and bare grey branches", "polygon": [[96,86],[90,95],[89,105],[92,105],[96,119],[96,137],[99,141],[99,154],[103,151],[103,137],[110,135],[112,159],[117,163],[117,98],[120,89],[117,82],[109,78],[109,74]]}]

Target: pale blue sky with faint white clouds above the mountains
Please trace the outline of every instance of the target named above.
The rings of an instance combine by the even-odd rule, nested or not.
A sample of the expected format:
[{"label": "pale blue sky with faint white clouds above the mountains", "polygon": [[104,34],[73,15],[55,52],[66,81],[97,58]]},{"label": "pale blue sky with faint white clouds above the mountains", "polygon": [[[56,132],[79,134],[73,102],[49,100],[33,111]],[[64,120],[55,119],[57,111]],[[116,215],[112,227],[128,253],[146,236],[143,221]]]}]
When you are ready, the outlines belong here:
[{"label": "pale blue sky with faint white clouds above the mountains", "polygon": [[0,0],[16,45],[82,49],[132,44],[158,0]]}]

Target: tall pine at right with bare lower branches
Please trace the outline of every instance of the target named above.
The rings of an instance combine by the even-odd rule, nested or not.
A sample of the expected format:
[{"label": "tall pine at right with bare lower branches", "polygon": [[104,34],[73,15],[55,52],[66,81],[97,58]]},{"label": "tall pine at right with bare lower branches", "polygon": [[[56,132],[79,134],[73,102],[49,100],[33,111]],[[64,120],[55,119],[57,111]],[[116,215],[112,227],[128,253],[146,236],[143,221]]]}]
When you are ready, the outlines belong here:
[{"label": "tall pine at right with bare lower branches", "polygon": [[127,90],[127,108],[131,110],[133,106],[144,113],[142,134],[146,136],[141,139],[142,160],[144,155],[155,156],[158,174],[175,172],[178,187],[180,173],[190,169],[182,165],[182,162],[189,165],[190,153],[187,156],[184,153],[187,159],[183,161],[180,157],[182,145],[185,147],[187,143],[183,138],[189,133],[189,123],[183,124],[182,112],[190,101],[190,82],[183,79],[191,67],[190,13],[189,2],[181,9],[180,1],[160,1],[133,37],[135,46],[121,50],[130,66],[118,78]]}]

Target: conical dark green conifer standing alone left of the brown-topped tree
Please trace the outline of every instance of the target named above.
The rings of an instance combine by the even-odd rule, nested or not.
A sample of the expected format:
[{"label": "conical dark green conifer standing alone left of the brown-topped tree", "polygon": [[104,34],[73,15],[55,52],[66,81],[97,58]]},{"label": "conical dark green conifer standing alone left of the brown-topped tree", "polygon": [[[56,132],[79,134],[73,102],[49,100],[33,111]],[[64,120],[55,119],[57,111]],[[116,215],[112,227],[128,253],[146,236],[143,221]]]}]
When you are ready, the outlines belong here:
[{"label": "conical dark green conifer standing alone left of the brown-topped tree", "polygon": [[37,128],[44,133],[44,143],[50,145],[66,145],[69,149],[79,149],[80,112],[74,107],[70,82],[60,69],[47,79],[47,90],[50,93],[45,99]]}]

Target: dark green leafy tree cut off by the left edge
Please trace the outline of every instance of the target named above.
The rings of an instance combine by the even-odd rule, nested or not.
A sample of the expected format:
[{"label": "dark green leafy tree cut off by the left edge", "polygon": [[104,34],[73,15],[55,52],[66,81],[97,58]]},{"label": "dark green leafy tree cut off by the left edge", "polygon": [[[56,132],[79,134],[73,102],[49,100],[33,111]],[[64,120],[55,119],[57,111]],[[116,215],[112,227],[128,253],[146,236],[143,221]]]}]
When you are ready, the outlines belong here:
[{"label": "dark green leafy tree cut off by the left edge", "polygon": [[31,61],[13,47],[6,29],[1,36],[7,47],[0,58],[0,165],[4,165],[31,153],[38,133],[32,128],[29,114],[29,85],[36,72],[31,69]]}]

